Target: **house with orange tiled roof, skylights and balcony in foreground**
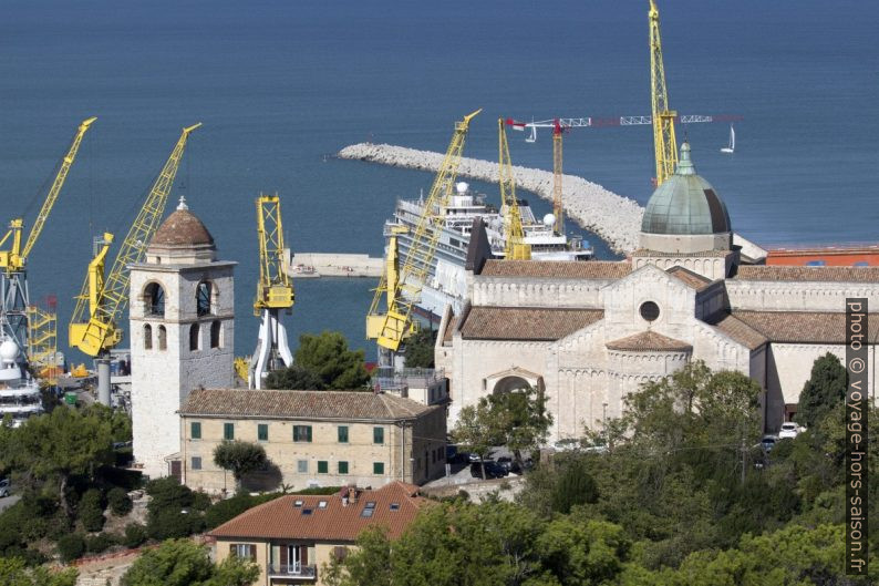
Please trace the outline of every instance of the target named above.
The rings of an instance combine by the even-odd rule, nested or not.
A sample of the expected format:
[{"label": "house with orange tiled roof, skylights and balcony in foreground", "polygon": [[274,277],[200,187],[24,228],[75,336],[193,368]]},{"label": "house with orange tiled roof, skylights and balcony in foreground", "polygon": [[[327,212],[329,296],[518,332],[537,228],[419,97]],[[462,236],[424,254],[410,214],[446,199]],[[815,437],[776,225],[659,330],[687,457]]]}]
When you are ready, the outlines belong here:
[{"label": "house with orange tiled roof, skylights and balcony in foreground", "polygon": [[417,486],[402,482],[378,490],[351,486],[329,496],[287,495],[241,513],[208,535],[217,539],[218,564],[235,555],[259,566],[257,585],[320,585],[323,565],[347,555],[365,528],[383,526],[397,537],[430,504]]}]

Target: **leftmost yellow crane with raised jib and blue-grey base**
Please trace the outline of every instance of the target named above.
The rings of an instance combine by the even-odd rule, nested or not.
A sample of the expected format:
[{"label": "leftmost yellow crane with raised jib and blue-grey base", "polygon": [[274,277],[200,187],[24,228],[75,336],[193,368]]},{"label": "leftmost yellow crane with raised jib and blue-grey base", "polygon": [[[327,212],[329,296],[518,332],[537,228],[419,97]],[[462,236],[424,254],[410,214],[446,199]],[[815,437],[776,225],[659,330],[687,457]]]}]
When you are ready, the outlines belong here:
[{"label": "leftmost yellow crane with raised jib and blue-grey base", "polygon": [[[0,247],[7,247],[0,249],[0,268],[2,268],[2,273],[0,274],[0,281],[2,281],[0,322],[2,322],[3,335],[18,345],[19,349],[22,351],[23,359],[30,349],[28,342],[29,333],[33,331],[28,320],[28,308],[31,307],[28,292],[28,257],[42,234],[45,222],[49,219],[49,214],[52,212],[58,196],[61,193],[61,188],[64,186],[70,167],[73,165],[76,153],[80,151],[82,138],[95,120],[97,119],[86,119],[82,121],[76,128],[76,133],[73,135],[73,141],[66,154],[61,158],[58,174],[49,188],[49,193],[45,196],[45,201],[43,201],[40,213],[37,215],[31,232],[28,234],[24,246],[22,247],[21,245],[21,233],[24,228],[23,218],[15,218],[10,222],[9,232],[0,239]],[[34,311],[31,311],[31,315],[35,316]],[[40,320],[35,323],[40,327],[34,333],[41,338],[50,336],[52,323],[54,323],[54,319],[50,319],[50,317],[46,316],[45,320]],[[30,357],[27,359],[29,360]]]}]

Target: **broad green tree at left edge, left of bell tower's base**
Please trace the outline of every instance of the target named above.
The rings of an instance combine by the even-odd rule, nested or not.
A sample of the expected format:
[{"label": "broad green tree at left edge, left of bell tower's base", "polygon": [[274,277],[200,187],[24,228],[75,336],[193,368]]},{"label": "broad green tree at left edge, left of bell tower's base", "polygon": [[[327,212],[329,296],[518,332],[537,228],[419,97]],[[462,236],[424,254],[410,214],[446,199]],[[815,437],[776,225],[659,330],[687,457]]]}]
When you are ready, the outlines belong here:
[{"label": "broad green tree at left edge, left of bell tower's base", "polygon": [[0,426],[0,467],[24,477],[58,482],[59,502],[71,516],[65,497],[72,475],[91,477],[112,463],[112,423],[100,410],[55,409],[28,419],[17,429]]}]

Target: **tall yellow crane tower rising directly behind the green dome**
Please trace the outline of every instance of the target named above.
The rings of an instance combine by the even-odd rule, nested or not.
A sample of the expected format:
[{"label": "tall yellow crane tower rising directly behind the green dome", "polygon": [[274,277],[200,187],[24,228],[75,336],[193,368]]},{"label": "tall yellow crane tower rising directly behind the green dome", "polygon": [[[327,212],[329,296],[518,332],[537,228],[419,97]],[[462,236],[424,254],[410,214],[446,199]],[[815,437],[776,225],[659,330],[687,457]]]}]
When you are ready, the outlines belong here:
[{"label": "tall yellow crane tower rising directly behind the green dome", "polygon": [[669,109],[665,89],[665,68],[662,64],[662,40],[659,30],[659,9],[650,0],[650,97],[653,122],[653,151],[656,160],[656,186],[674,174],[678,166],[678,140],[674,137],[674,119],[678,112]]}]

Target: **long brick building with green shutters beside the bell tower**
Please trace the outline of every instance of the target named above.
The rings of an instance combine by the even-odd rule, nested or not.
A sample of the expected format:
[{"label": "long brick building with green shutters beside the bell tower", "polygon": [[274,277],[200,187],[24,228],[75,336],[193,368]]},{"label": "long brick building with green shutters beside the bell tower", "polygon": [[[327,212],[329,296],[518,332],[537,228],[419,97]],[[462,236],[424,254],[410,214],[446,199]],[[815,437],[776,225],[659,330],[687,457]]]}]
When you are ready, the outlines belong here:
[{"label": "long brick building with green shutters beside the bell tower", "polygon": [[235,489],[214,464],[225,440],[262,445],[271,466],[245,479],[251,490],[281,484],[422,484],[445,472],[446,408],[372,391],[196,389],[179,410],[183,482]]}]

